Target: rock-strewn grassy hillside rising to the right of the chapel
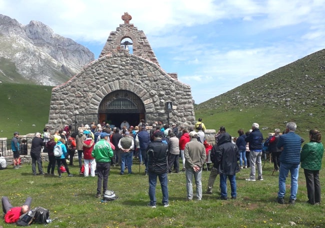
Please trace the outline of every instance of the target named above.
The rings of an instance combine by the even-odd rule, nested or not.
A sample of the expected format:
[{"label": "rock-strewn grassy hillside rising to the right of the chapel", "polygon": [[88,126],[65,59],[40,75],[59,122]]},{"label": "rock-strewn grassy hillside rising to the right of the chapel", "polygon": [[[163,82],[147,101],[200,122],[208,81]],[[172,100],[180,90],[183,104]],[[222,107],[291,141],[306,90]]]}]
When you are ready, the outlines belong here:
[{"label": "rock-strewn grassy hillside rising to the right of the chapel", "polygon": [[[217,82],[216,82],[217,83]],[[207,128],[225,126],[232,135],[253,122],[264,136],[294,121],[297,133],[325,131],[325,50],[318,51],[195,106]]]}]

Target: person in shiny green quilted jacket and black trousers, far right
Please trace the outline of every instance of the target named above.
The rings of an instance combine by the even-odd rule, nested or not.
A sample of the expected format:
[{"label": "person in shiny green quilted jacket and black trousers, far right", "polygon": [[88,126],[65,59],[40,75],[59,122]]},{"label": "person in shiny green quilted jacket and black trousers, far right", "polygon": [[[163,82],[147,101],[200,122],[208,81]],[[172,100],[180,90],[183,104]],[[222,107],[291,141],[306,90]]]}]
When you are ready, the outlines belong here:
[{"label": "person in shiny green quilted jacket and black trousers, far right", "polygon": [[303,168],[306,178],[307,195],[310,204],[320,202],[320,182],[319,170],[321,169],[321,159],[324,152],[319,131],[311,129],[309,131],[310,141],[303,145],[300,155],[301,168]]}]

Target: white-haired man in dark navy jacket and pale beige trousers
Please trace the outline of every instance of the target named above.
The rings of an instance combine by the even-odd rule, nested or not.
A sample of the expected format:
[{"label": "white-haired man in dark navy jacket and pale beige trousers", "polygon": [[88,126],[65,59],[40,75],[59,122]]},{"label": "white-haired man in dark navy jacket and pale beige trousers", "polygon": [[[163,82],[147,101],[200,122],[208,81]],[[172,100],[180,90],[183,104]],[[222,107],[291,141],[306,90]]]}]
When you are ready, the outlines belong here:
[{"label": "white-haired man in dark navy jacket and pale beige trousers", "polygon": [[259,131],[258,123],[253,123],[251,126],[251,132],[245,138],[245,141],[249,143],[249,164],[250,164],[250,175],[246,179],[248,181],[255,181],[255,163],[257,164],[258,177],[257,180],[263,180],[262,177],[262,142],[263,135]]}]

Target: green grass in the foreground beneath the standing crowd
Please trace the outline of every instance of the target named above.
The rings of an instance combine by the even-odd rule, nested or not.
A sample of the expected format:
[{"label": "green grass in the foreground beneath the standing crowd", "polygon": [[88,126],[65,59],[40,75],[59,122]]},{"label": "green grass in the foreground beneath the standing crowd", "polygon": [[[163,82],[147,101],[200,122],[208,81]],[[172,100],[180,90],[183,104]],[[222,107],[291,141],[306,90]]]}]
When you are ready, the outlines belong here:
[{"label": "green grass in the foreground beneath the standing crowd", "polygon": [[[263,181],[247,182],[249,168],[236,175],[237,199],[221,201],[218,198],[217,176],[213,194],[203,194],[202,201],[186,201],[185,174],[168,175],[169,207],[161,204],[161,188],[157,185],[157,207],[149,208],[148,180],[143,175],[144,166],[138,173],[134,159],[133,175],[119,175],[119,167],[112,167],[108,188],[115,191],[118,199],[101,203],[95,198],[97,177],[81,177],[79,168],[70,167],[74,177],[32,176],[31,166],[24,164],[14,170],[12,166],[1,170],[1,195],[8,196],[13,205],[20,205],[31,196],[32,207],[43,206],[50,210],[54,219],[47,227],[324,227],[325,204],[305,203],[307,193],[303,170],[299,172],[299,187],[295,205],[276,203],[278,173],[272,175],[273,164],[266,162]],[[45,164],[46,166],[46,164]],[[324,159],[323,159],[324,167]],[[320,171],[320,183],[325,177]],[[202,190],[205,192],[209,172],[203,171]],[[285,200],[289,195],[289,179]],[[194,185],[195,188],[195,185]],[[228,183],[228,194],[230,194]],[[195,192],[195,190],[194,190]],[[322,192],[325,189],[322,188]],[[324,194],[322,194],[324,198]],[[0,221],[3,227],[11,227]],[[32,224],[31,227],[39,227]],[[41,225],[42,226],[42,225]]]}]

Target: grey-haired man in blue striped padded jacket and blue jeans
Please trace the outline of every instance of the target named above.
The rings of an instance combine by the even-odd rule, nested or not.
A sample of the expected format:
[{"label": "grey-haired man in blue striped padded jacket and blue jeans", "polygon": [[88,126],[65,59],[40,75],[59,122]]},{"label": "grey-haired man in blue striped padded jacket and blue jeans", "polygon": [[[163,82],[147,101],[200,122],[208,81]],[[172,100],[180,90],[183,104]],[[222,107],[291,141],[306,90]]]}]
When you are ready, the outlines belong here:
[{"label": "grey-haired man in blue striped padded jacket and blue jeans", "polygon": [[281,135],[277,142],[277,148],[281,149],[280,171],[278,175],[278,193],[277,202],[284,204],[285,179],[290,171],[291,189],[289,203],[294,204],[298,191],[298,174],[300,164],[301,144],[304,141],[295,133],[297,125],[294,122],[286,124],[285,134]]}]

